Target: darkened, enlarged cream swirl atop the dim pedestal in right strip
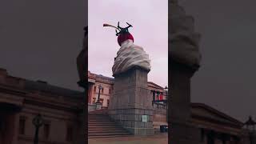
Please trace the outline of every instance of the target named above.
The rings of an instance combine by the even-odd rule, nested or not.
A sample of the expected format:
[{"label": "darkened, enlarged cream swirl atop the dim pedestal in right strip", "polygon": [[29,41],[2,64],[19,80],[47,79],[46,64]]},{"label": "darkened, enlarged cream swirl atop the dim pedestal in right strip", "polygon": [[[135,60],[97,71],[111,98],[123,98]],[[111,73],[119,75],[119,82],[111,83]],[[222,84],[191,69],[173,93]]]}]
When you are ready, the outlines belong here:
[{"label": "darkened, enlarged cream swirl atop the dim pedestal in right strip", "polygon": [[200,34],[194,31],[194,18],[186,15],[177,0],[170,1],[170,58],[186,66],[198,68],[201,62],[199,52]]}]

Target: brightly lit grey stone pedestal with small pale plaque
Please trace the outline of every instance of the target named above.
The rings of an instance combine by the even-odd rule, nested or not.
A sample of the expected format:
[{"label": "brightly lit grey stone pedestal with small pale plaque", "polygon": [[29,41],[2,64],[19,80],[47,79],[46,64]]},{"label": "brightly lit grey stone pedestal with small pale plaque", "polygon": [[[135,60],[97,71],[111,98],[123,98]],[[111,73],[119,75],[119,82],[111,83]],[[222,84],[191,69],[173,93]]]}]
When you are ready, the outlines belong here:
[{"label": "brightly lit grey stone pedestal with small pale plaque", "polygon": [[152,135],[153,107],[147,89],[149,71],[135,67],[114,75],[114,94],[110,99],[110,118],[134,135]]}]

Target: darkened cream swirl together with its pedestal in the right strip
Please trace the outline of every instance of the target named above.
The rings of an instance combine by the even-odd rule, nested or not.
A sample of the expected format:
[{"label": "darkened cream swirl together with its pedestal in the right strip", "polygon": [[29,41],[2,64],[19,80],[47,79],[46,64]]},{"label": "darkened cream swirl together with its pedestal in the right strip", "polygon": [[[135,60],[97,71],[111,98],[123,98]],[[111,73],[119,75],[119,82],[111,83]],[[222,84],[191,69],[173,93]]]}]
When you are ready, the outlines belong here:
[{"label": "darkened cream swirl together with its pedestal in the right strip", "polygon": [[169,1],[169,63],[170,95],[169,133],[172,144],[200,143],[200,130],[190,126],[190,78],[198,70],[201,54],[199,34],[194,32],[194,18],[178,6],[178,0]]}]

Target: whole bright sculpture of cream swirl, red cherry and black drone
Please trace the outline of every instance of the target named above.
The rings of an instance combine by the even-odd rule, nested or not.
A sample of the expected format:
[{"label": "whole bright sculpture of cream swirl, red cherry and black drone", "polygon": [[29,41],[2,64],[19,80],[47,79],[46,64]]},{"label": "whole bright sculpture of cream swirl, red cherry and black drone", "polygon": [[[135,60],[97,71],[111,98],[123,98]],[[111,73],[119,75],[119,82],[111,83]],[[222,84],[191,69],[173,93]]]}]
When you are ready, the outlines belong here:
[{"label": "whole bright sculpture of cream swirl, red cherry and black drone", "polygon": [[[127,23],[127,22],[126,22]],[[143,50],[141,46],[134,45],[134,37],[128,31],[129,26],[122,28],[119,26],[111,26],[109,24],[103,24],[103,26],[111,26],[116,29],[116,35],[118,36],[118,44],[120,49],[118,50],[117,57],[114,59],[114,66],[112,67],[113,75],[122,74],[133,67],[140,67],[143,70],[150,71],[150,58],[149,55]]]}]

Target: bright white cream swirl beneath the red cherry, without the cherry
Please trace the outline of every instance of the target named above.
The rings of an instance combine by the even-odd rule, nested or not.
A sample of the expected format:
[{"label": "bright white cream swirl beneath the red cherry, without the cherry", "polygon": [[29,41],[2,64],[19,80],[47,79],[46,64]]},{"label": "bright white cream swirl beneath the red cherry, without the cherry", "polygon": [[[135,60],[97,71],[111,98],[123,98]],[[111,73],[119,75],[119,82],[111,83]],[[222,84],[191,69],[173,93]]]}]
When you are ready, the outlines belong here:
[{"label": "bright white cream swirl beneath the red cherry, without the cherry", "polygon": [[117,54],[112,67],[114,75],[126,72],[134,66],[141,67],[144,70],[151,69],[149,55],[141,46],[134,45],[134,42],[130,39],[122,42]]}]

